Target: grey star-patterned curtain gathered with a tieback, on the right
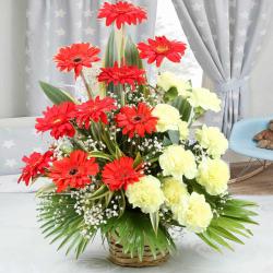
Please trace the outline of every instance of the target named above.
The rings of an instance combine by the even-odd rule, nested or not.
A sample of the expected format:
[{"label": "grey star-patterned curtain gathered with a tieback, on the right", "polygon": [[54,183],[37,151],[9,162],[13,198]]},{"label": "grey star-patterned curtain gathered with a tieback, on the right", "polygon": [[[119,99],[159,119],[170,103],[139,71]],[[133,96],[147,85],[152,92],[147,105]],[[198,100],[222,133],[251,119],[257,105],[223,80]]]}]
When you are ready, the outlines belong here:
[{"label": "grey star-patterned curtain gathered with a tieback, on the right", "polygon": [[221,115],[209,115],[229,136],[244,117],[249,74],[272,19],[272,0],[173,0],[189,44],[222,98]]}]

